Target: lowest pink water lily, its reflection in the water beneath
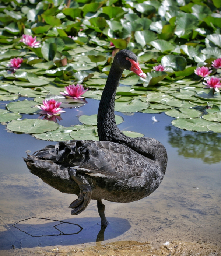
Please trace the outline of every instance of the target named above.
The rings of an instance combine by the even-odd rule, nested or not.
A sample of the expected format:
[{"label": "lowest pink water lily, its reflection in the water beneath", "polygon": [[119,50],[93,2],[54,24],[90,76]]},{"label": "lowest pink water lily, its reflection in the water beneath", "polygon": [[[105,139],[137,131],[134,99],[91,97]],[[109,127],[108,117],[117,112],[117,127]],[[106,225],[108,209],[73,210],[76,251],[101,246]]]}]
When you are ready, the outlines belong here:
[{"label": "lowest pink water lily, its reflection in the water beneath", "polygon": [[60,113],[65,112],[62,108],[59,108],[62,102],[57,102],[54,99],[43,101],[43,105],[37,106],[39,109],[42,109],[39,113],[42,115],[60,115]]}]

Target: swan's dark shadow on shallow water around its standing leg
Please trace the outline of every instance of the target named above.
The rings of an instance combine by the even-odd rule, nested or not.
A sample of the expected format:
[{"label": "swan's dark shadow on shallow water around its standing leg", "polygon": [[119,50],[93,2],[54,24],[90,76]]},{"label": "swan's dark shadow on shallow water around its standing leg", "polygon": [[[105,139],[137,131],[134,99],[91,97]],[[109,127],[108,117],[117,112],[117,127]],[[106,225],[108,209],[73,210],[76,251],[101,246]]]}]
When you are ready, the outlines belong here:
[{"label": "swan's dark shadow on shallow water around its standing leg", "polygon": [[[7,231],[0,233],[0,250],[9,250],[12,246],[15,246],[15,248],[21,246],[23,248],[33,248],[36,246],[64,246],[100,242],[116,238],[131,227],[129,221],[122,218],[109,217],[108,220],[111,224],[106,228],[98,224],[101,221],[100,218],[62,220],[69,223],[38,218],[24,220],[16,224],[15,227],[11,226]],[[83,229],[73,225],[76,223]]]}]

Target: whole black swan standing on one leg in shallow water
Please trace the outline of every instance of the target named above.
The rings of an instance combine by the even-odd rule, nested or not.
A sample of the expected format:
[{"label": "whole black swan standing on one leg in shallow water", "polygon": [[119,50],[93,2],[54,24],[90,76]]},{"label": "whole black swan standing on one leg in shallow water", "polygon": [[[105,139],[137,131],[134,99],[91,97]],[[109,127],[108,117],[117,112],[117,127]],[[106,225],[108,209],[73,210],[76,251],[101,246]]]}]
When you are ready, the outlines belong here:
[{"label": "whole black swan standing on one leg in shallow water", "polygon": [[71,214],[97,200],[101,225],[108,225],[102,199],[128,203],[149,196],[160,185],[167,165],[165,147],[154,138],[130,138],[117,127],[114,101],[123,70],[146,78],[137,56],[119,51],[101,97],[97,130],[100,141],[71,140],[48,145],[24,159],[29,170],[63,193],[76,194]]}]

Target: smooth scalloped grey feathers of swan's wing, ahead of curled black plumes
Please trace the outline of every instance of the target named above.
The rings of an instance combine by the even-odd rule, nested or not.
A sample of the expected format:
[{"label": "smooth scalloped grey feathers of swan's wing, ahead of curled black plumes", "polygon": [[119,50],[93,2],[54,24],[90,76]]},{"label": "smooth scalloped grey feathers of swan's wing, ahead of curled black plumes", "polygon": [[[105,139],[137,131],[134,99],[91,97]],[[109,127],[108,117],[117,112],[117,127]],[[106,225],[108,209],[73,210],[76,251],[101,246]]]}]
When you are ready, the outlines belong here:
[{"label": "smooth scalloped grey feathers of swan's wing, ahead of curled black plumes", "polygon": [[[88,158],[82,161],[70,161],[70,167],[90,176],[129,178],[141,176],[147,171],[149,163],[146,157],[129,147],[110,141],[81,141],[88,149]],[[69,147],[68,144],[66,144]],[[72,144],[70,145],[70,147]]]}]

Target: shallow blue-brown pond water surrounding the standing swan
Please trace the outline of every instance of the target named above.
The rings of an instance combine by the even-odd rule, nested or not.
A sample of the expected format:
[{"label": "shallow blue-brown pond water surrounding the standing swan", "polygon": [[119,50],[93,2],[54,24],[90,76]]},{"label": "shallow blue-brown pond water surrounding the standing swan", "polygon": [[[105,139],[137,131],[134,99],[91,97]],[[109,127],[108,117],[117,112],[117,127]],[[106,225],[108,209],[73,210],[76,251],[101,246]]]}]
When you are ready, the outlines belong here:
[{"label": "shallow blue-brown pond water surrounding the standing swan", "polygon": [[[81,108],[66,109],[60,124],[80,124],[77,116],[97,113],[99,101],[87,101]],[[119,125],[121,130],[143,133],[164,144],[168,167],[161,185],[150,196],[127,204],[103,200],[111,223],[104,232],[99,232],[95,200],[83,213],[72,216],[68,207],[77,196],[63,194],[29,173],[22,159],[25,151],[33,153],[56,142],[11,133],[0,125],[0,255],[15,255],[15,249],[26,255],[39,247],[93,244],[96,239],[104,239],[102,243],[151,241],[156,245],[173,240],[206,241],[221,246],[221,134],[177,129],[171,125],[173,118],[164,113],[116,114],[125,121]],[[152,116],[159,122],[154,123]],[[39,218],[74,223],[83,229]],[[22,220],[15,226],[26,233],[12,226]],[[60,232],[69,235],[51,236]]]}]

